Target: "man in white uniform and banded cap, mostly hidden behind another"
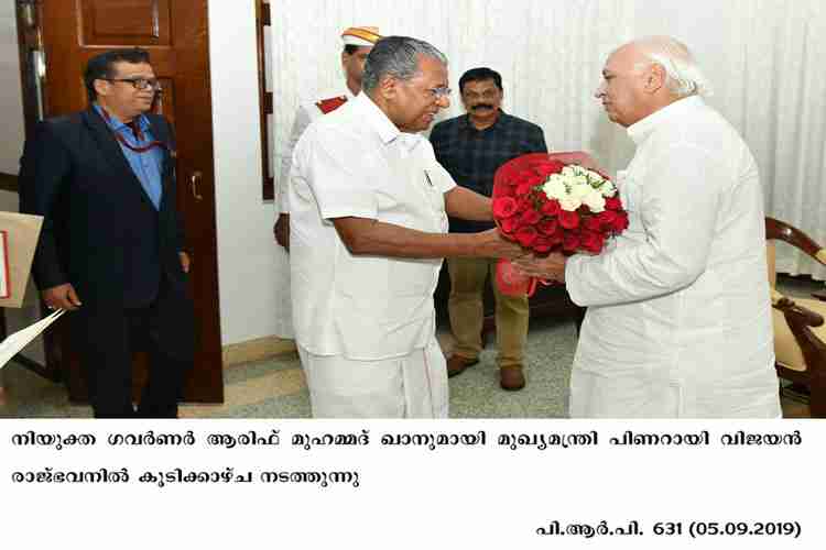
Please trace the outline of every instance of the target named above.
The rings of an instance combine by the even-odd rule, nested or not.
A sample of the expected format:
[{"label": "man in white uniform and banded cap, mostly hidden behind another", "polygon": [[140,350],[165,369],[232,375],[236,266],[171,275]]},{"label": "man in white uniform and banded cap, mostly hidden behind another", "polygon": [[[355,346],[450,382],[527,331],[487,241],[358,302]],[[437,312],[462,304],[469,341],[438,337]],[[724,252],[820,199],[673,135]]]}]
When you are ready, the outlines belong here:
[{"label": "man in white uniform and banded cap, mostly hidden behind another", "polygon": [[311,122],[330,113],[352,99],[361,91],[361,76],[365,73],[367,55],[372,50],[376,41],[381,38],[377,26],[351,26],[341,33],[341,69],[345,76],[344,91],[338,95],[327,96],[316,101],[306,101],[298,106],[290,132],[290,139],[281,157],[281,172],[279,174],[275,194],[275,224],[272,228],[275,242],[282,249],[276,250],[276,323],[275,334],[281,338],[293,338],[292,312],[290,311],[290,204],[287,200],[286,185],[290,168],[293,164],[293,151],[298,139]]}]

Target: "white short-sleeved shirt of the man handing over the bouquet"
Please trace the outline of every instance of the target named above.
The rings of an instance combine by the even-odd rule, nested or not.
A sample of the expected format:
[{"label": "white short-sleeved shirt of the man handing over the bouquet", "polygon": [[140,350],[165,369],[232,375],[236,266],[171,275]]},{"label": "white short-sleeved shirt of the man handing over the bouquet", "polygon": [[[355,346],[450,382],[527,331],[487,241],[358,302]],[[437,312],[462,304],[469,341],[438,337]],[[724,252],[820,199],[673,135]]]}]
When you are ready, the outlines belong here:
[{"label": "white short-sleeved shirt of the man handing over the bouquet", "polygon": [[293,155],[290,235],[298,345],[352,360],[402,356],[434,337],[442,260],[355,256],[330,219],[447,232],[456,184],[430,142],[400,132],[365,94],[309,125]]}]

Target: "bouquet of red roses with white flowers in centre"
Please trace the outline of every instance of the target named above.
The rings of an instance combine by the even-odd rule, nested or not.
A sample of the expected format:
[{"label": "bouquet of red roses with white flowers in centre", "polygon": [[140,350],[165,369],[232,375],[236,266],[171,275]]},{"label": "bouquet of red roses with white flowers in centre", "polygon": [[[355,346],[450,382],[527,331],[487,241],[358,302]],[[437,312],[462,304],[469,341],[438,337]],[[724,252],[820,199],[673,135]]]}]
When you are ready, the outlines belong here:
[{"label": "bouquet of red roses with white flowers in centre", "polygon": [[[599,254],[608,238],[628,227],[617,187],[599,172],[554,156],[522,155],[497,170],[492,197],[497,227],[506,239],[535,254]],[[497,282],[503,294],[528,296],[537,283],[517,274],[508,260],[499,261]]]}]

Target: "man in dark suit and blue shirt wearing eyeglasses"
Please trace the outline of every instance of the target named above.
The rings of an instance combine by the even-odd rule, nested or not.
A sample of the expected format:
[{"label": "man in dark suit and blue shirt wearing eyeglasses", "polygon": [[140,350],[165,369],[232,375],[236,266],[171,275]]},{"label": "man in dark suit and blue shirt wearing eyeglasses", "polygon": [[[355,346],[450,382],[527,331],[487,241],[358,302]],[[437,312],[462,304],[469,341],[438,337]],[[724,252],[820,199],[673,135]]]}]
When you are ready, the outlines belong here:
[{"label": "man in dark suit and blue shirt wearing eyeglasses", "polygon": [[145,51],[99,54],[84,80],[89,108],[41,122],[21,158],[20,209],[44,217],[34,279],[50,309],[72,312],[95,417],[175,418],[194,322],[172,128],[150,112],[160,86]]}]

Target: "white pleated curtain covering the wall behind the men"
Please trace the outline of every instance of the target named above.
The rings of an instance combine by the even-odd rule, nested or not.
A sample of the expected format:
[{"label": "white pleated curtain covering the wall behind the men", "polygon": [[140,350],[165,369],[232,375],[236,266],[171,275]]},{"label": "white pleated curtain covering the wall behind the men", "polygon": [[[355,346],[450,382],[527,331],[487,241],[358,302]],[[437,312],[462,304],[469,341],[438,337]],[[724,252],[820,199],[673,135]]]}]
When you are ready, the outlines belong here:
[{"label": "white pleated curtain covering the wall behind the men", "polygon": [[[545,131],[556,151],[587,150],[610,172],[633,147],[593,94],[606,56],[634,36],[685,42],[710,78],[709,102],[741,132],[761,170],[765,211],[826,243],[826,3],[819,0],[272,0],[273,166],[300,101],[340,94],[339,34],[378,25],[426,40],[458,78],[489,66],[503,108]],[[278,177],[278,174],[276,174]],[[280,185],[280,182],[276,182]],[[778,266],[826,279],[826,268],[779,248]]]}]

